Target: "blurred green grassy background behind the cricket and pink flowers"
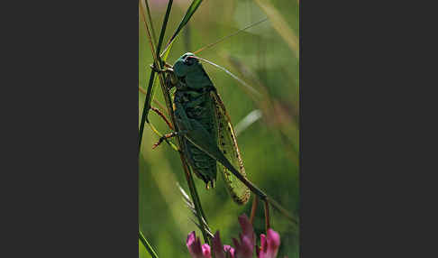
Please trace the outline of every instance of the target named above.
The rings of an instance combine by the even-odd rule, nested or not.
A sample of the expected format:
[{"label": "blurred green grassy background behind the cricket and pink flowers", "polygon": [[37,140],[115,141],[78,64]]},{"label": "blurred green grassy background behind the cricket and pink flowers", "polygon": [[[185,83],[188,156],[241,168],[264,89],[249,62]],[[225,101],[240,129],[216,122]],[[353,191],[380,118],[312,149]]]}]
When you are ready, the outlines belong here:
[{"label": "blurred green grassy background behind the cricket and pink flowers", "polygon": [[[168,1],[150,1],[151,16],[157,34]],[[191,1],[175,0],[170,13],[165,42],[178,27]],[[268,5],[263,3],[269,3]],[[229,115],[237,129],[245,116],[260,110],[261,118],[250,124],[238,135],[248,178],[264,189],[271,197],[297,217],[299,214],[298,170],[298,57],[299,4],[297,1],[226,0],[204,1],[191,18],[187,27],[178,35],[168,62],[173,63],[187,51],[201,47],[236,32],[239,29],[269,17],[251,29],[197,54],[199,57],[230,70],[262,93],[255,98],[223,70],[203,63],[224,100]],[[152,63],[151,48],[145,26],[139,16],[139,83],[147,88]],[[158,36],[158,35],[157,35]],[[294,43],[296,45],[294,45]],[[155,98],[165,103],[160,86]],[[139,121],[145,95],[139,91]],[[152,106],[157,104],[152,103]],[[157,106],[159,107],[159,106]],[[160,108],[161,109],[161,108]],[[256,111],[257,113],[258,111]],[[169,128],[154,113],[151,123],[161,133]],[[240,126],[239,126],[240,127]],[[242,127],[241,127],[242,128]],[[239,130],[240,131],[240,130]],[[152,150],[159,137],[145,125],[139,157],[139,225],[146,238],[160,257],[190,257],[187,252],[187,234],[200,231],[190,220],[196,220],[184,204],[177,182],[188,193],[184,170],[178,153],[163,143]],[[218,174],[218,177],[219,174]],[[251,201],[245,206],[236,205],[228,196],[224,183],[218,178],[215,189],[205,189],[205,184],[195,179],[206,217],[212,231],[220,230],[224,244],[232,244],[241,228],[237,217],[248,216]],[[278,257],[298,257],[298,234],[287,220],[271,209],[271,226],[281,236]],[[264,217],[259,205],[254,228],[258,236],[264,232]],[[232,244],[233,245],[233,244]],[[141,257],[149,257],[139,243]]]}]

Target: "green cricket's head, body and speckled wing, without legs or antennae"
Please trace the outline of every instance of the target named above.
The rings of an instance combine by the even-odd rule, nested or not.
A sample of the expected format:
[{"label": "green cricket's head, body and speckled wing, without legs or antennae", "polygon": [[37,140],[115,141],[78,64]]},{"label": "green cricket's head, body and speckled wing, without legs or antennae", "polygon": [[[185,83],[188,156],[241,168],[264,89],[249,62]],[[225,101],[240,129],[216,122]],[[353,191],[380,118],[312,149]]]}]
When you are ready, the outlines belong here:
[{"label": "green cricket's head, body and speckled wing, without legs or antennae", "polygon": [[233,200],[246,203],[250,190],[229,171],[246,177],[233,125],[216,88],[191,53],[181,56],[173,71],[175,120],[178,132],[185,135],[181,148],[187,161],[207,187],[214,187],[219,169]]}]

